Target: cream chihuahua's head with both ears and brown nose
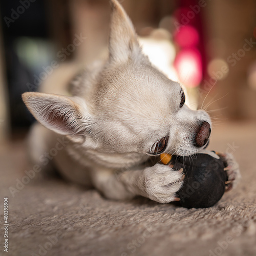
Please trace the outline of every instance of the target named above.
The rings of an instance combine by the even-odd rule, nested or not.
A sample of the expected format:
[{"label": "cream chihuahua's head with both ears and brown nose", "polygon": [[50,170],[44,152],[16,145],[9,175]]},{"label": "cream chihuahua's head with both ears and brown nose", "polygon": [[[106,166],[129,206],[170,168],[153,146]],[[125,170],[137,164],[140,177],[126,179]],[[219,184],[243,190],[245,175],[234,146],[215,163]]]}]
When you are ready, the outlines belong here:
[{"label": "cream chihuahua's head with both ears and brown nose", "polygon": [[205,148],[210,118],[190,110],[178,82],[141,52],[133,25],[112,0],[109,59],[87,95],[25,93],[35,118],[48,129],[100,152],[186,156]]}]

